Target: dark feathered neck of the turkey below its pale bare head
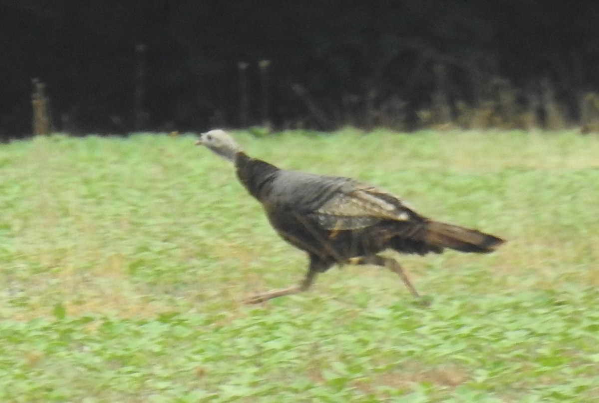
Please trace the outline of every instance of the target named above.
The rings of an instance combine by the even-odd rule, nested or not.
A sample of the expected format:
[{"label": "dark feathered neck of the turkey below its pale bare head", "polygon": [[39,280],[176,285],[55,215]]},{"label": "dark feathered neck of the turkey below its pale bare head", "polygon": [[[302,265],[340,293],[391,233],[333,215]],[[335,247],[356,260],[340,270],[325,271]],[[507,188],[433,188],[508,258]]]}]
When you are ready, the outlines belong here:
[{"label": "dark feathered neck of the turkey below its pale bare head", "polygon": [[273,181],[280,171],[276,166],[251,158],[244,152],[238,152],[235,155],[235,169],[237,178],[247,191],[259,201],[264,201],[270,193]]}]

